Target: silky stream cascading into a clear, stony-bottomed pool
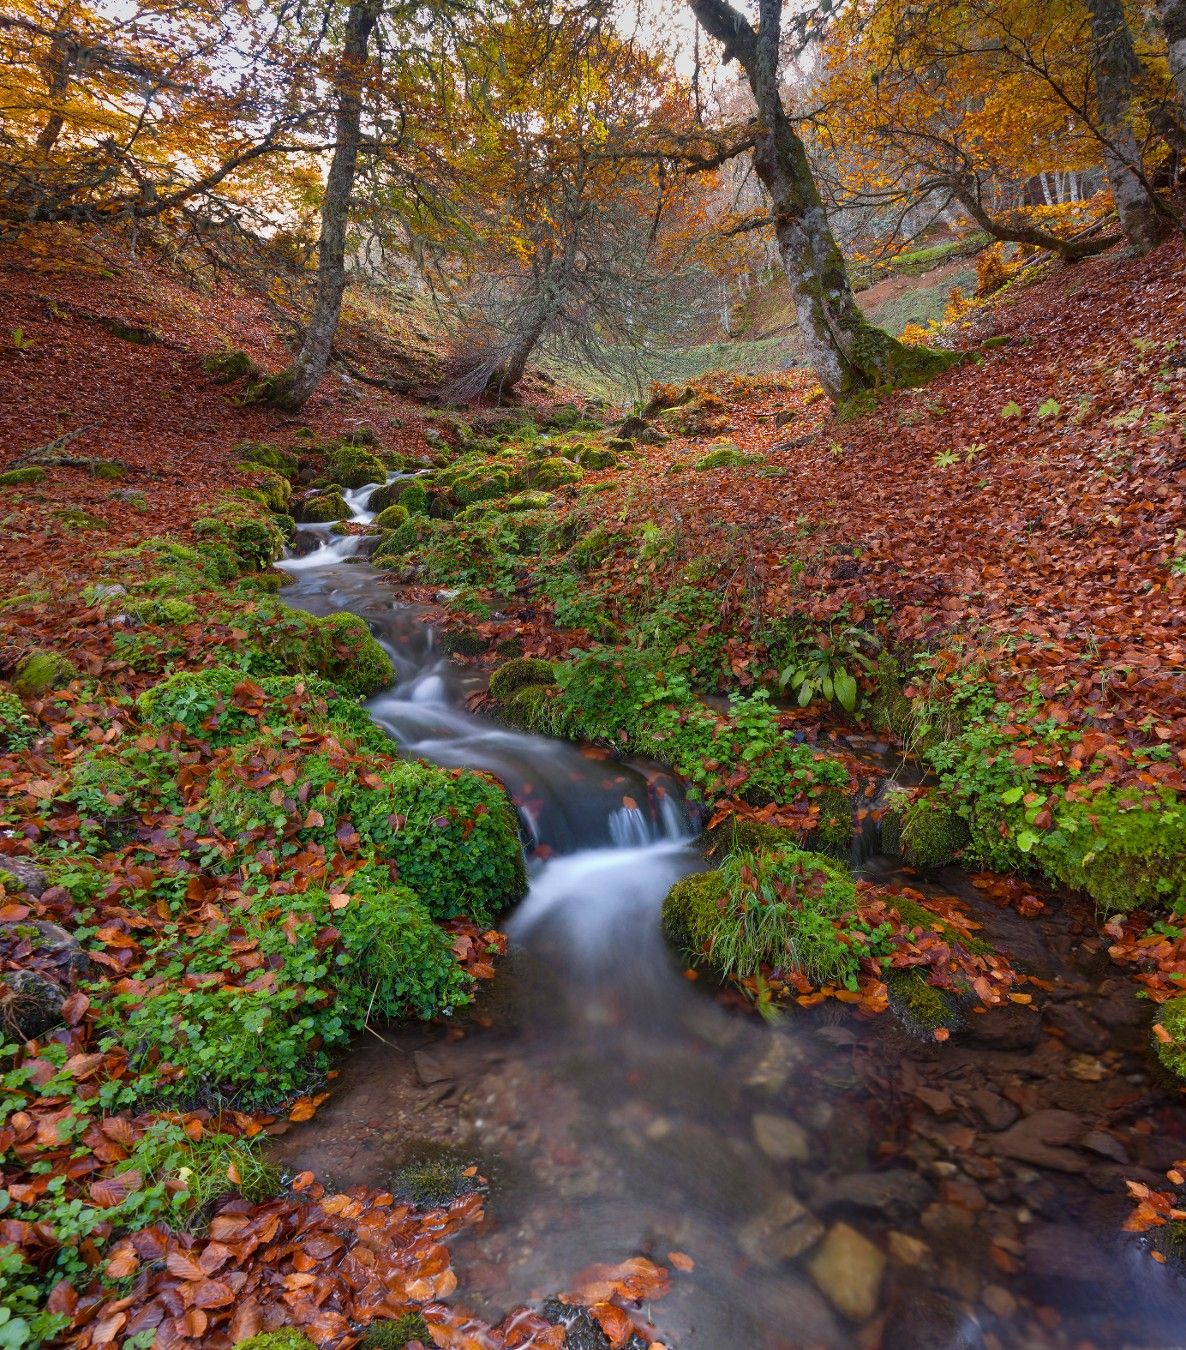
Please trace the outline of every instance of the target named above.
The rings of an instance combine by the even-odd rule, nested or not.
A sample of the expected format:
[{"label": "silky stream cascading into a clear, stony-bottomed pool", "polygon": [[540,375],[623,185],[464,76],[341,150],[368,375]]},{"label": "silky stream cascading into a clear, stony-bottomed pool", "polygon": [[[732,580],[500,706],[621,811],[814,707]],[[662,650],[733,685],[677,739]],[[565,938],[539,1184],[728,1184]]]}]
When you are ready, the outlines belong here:
[{"label": "silky stream cascading into a clear, stony-bottomed pool", "polygon": [[[356,520],[368,491],[348,495]],[[385,1184],[426,1141],[476,1162],[490,1218],[453,1251],[491,1318],[590,1262],[675,1251],[694,1269],[653,1316],[684,1350],[1186,1346],[1181,1277],[1121,1233],[1124,1180],[1164,1184],[1186,1114],[1090,914],[1058,900],[1024,919],[1008,888],[874,853],[876,878],[965,902],[1044,981],[1042,1018],[970,1017],[942,1046],[837,1003],[761,1022],[660,934],[662,896],[704,865],[676,784],[467,713],[478,682],[366,547],[306,526],[285,598],[371,624],[397,672],[375,720],[410,755],[507,784],[532,884],[475,1013],[362,1037],[281,1141],[287,1164],[348,1185]]]}]

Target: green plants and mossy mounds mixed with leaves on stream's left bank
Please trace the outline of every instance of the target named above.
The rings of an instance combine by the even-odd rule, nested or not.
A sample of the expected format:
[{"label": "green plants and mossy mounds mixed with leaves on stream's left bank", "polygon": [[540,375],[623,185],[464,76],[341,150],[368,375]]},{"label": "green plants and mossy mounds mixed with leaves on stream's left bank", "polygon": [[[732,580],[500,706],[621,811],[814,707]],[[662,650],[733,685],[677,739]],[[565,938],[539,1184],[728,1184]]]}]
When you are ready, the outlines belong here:
[{"label": "green plants and mossy mounds mixed with leaves on stream's left bank", "polygon": [[[242,455],[264,487],[304,473]],[[525,890],[501,784],[399,756],[359,702],[387,656],[359,618],[281,602],[286,494],[236,491],[189,540],[107,555],[80,597],[86,660],[27,652],[0,691],[0,829],[90,957],[84,1025],[0,1050],[4,1219],[39,1234],[35,1262],[0,1243],[0,1345],[61,1332],[49,1291],[101,1277],[121,1233],[274,1193],[220,1114],[316,1091],[360,1027],[465,1004],[457,932],[483,953]],[[179,1112],[205,1108],[194,1139]],[[18,1111],[57,1125],[15,1152]],[[130,1123],[93,1172],[113,1116]]]}]

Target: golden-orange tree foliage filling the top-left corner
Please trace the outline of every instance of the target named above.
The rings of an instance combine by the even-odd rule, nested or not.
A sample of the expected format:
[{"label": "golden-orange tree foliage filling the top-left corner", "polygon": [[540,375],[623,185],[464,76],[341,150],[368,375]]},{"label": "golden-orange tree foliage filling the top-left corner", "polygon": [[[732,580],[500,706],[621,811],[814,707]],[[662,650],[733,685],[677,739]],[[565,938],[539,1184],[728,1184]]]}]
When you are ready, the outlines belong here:
[{"label": "golden-orange tree foliage filling the top-left corner", "polygon": [[0,216],[150,220],[267,208],[258,170],[305,148],[305,53],[260,5],[0,7]]}]

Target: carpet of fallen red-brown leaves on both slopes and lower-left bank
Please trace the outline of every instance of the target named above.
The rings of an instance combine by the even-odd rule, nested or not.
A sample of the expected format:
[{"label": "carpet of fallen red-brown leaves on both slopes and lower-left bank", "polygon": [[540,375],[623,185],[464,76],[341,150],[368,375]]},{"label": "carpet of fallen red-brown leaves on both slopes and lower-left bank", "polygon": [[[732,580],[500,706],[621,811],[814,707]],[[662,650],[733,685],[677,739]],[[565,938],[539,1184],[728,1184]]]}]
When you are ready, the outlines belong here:
[{"label": "carpet of fallen red-brown leaves on both slopes and lower-left bank", "polygon": [[[461,578],[460,597],[441,598],[459,578],[426,572],[430,549],[428,563],[413,555],[389,564],[393,585],[447,626],[475,634],[476,663],[488,663],[507,640],[549,660],[607,633],[629,632],[636,647],[645,645],[656,629],[640,622],[640,601],[667,595],[662,622],[684,634],[673,651],[702,690],[776,688],[783,664],[801,657],[804,644],[847,653],[846,672],[862,693],[851,718],[858,722],[885,693],[877,671],[891,655],[899,663],[891,693],[907,703],[923,693],[934,702],[936,684],[957,698],[973,686],[989,690],[1000,710],[992,756],[1007,751],[1008,774],[984,791],[1008,801],[1020,788],[1009,811],[1023,814],[1005,811],[993,822],[1013,856],[1020,848],[1043,857],[1058,829],[1055,798],[1069,782],[1096,794],[1092,801],[1128,792],[1132,802],[1170,811],[1167,803],[1186,790],[1182,254],[1171,243],[1143,259],[1113,252],[1029,273],[969,317],[959,342],[973,359],[859,416],[838,418],[803,371],[708,378],[691,398],[668,392],[658,402],[671,406],[649,418],[661,431],[658,444],[621,450],[611,466],[590,467],[552,494],[548,509],[568,522],[569,543],[595,529],[606,536],[602,554],[587,548],[584,562],[568,555],[552,568],[571,580],[567,590],[541,585],[534,564],[519,558],[509,580],[479,567]],[[0,251],[0,294],[12,329],[0,351],[0,378],[12,390],[0,408],[0,474],[47,470],[32,481],[0,479],[0,566],[8,578],[0,676],[11,678],[30,652],[53,649],[84,679],[119,687],[125,706],[148,678],[119,659],[109,616],[84,589],[109,574],[104,555],[112,549],[162,533],[198,539],[194,524],[212,501],[256,478],[236,454],[243,441],[295,450],[310,435],[368,429],[413,460],[453,454],[456,418],[340,374],[300,418],[243,406],[242,386],[217,383],[204,359],[239,348],[275,369],[283,344],[260,297],[228,279],[196,288],[174,269],[120,256],[111,242],[58,231]],[[385,340],[375,335],[372,350],[386,350]],[[532,397],[542,393],[537,386]],[[613,437],[594,439],[603,446]],[[192,622],[183,663],[201,663],[201,625]],[[915,664],[924,656],[926,664]],[[119,734],[120,701],[92,706],[88,698],[67,695],[69,716],[49,698],[28,703],[47,740],[36,756],[5,763],[9,803],[30,821],[53,805],[46,765],[55,755],[69,760],[80,744]],[[785,720],[815,738],[837,709],[820,697]],[[985,744],[970,742],[969,759],[984,757]],[[31,838],[32,830],[18,830],[3,852],[20,855]],[[1050,857],[1051,869],[1062,865],[1062,855]],[[1074,867],[1082,871],[1079,855]],[[30,918],[61,918],[69,907],[55,903],[65,905],[8,886],[0,922],[15,932]],[[1144,925],[1135,919],[1114,919],[1108,932],[1114,954],[1140,957],[1155,998],[1177,992],[1186,940],[1162,934],[1159,946],[1139,946]],[[119,925],[86,933],[116,971],[124,968],[127,936]],[[24,957],[19,946],[5,948],[5,969]],[[9,1085],[46,1088],[0,1130],[0,1145],[11,1150],[5,1177],[19,1177],[30,1204],[45,1192],[26,1170],[38,1150],[72,1184],[89,1185],[98,1210],[127,1200],[111,1181],[146,1129],[140,1116],[124,1111],[136,1123],[113,1129],[105,1142],[88,1135],[92,1161],[81,1166],[57,1133],[80,1100],[97,1100],[111,1068],[94,1053],[93,1015],[85,998],[67,1008],[69,1025],[46,1038],[57,1038],[62,1053],[42,1048],[20,1061],[13,1048],[13,1072],[24,1077]],[[66,1052],[73,1068],[62,1072],[76,1079],[69,1091],[55,1076]],[[295,1119],[316,1108],[302,1100]],[[198,1138],[210,1123],[209,1111],[178,1119]],[[235,1130],[251,1137],[286,1125],[279,1114],[247,1111]],[[327,1196],[313,1179],[298,1181],[298,1193],[264,1206],[233,1202],[240,1208],[201,1243],[155,1231],[139,1246],[104,1247],[111,1234],[101,1223],[80,1234],[80,1250],[92,1243],[82,1250],[85,1266],[108,1262],[108,1277],[128,1282],[119,1287],[121,1297],[80,1299],[63,1280],[50,1301],[57,1326],[73,1320],[76,1331],[84,1328],[80,1343],[101,1345],[147,1335],[167,1319],[178,1338],[231,1345],[275,1326],[278,1310],[301,1311],[305,1300],[301,1320],[318,1341],[356,1343],[348,1323],[390,1310],[372,1292],[359,1293],[358,1269],[347,1288],[340,1261],[327,1284],[324,1269],[301,1254],[318,1241],[327,1256],[344,1247],[375,1253],[367,1260],[398,1274],[406,1301],[452,1292],[440,1239],[470,1222],[472,1197],[433,1218],[393,1210],[390,1196]],[[0,1223],[0,1242],[49,1268],[51,1243],[32,1220]],[[231,1266],[250,1272],[251,1299],[242,1281],[224,1278]],[[77,1285],[77,1270],[67,1273]],[[627,1262],[582,1287],[602,1326],[615,1327],[615,1343],[625,1343],[629,1332],[614,1310],[664,1281],[649,1264]],[[247,1304],[254,1311],[243,1320]],[[439,1343],[461,1347],[561,1343],[555,1327],[533,1318],[509,1319],[492,1332],[436,1311],[432,1324]]]}]

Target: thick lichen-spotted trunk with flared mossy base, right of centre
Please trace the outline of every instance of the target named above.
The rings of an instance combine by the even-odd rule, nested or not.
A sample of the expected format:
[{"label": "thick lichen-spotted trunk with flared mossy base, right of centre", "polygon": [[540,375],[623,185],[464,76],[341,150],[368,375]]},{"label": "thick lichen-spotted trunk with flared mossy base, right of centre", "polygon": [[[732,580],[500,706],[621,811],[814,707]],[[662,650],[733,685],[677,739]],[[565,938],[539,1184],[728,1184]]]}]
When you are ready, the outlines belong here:
[{"label": "thick lichen-spotted trunk with flared mossy base, right of centre", "polygon": [[779,90],[781,0],[761,0],[758,27],[729,0],[688,0],[700,27],[738,61],[757,103],[753,165],[770,196],[774,235],[807,356],[834,401],[869,389],[923,383],[951,352],[907,347],[866,321],[849,282],[807,148]]}]

